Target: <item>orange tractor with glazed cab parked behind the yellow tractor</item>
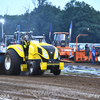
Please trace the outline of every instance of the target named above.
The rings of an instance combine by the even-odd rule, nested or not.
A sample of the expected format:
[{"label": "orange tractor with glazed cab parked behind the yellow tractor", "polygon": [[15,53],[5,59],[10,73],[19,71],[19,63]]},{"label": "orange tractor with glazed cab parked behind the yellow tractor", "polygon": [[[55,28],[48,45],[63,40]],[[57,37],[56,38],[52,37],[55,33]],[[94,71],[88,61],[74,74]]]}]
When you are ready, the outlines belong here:
[{"label": "orange tractor with glazed cab parked behind the yellow tractor", "polygon": [[70,62],[74,59],[74,48],[69,47],[68,32],[54,32],[54,45],[58,48],[60,60]]}]

